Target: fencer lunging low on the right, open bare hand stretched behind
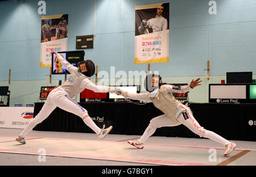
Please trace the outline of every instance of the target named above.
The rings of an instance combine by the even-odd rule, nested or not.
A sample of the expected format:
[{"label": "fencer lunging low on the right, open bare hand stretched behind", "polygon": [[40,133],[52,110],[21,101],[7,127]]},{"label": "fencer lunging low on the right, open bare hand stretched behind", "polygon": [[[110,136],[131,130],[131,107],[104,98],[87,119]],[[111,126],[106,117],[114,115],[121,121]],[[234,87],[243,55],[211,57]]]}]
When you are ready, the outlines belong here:
[{"label": "fencer lunging low on the right, open bare hand stretched behind", "polygon": [[184,104],[180,103],[174,98],[172,92],[184,93],[190,91],[192,88],[200,85],[200,78],[195,81],[192,80],[190,85],[187,86],[173,86],[168,84],[162,85],[162,78],[156,74],[148,74],[144,86],[147,93],[136,94],[123,90],[117,90],[116,94],[123,95],[125,98],[144,100],[152,102],[154,106],[160,109],[164,115],[155,117],[150,120],[150,124],[144,131],[143,135],[136,141],[128,141],[130,145],[143,149],[143,143],[154,134],[155,130],[160,127],[174,127],[180,124],[185,125],[193,133],[198,134],[200,137],[209,138],[210,140],[219,142],[226,147],[224,155],[230,154],[236,147],[234,142],[230,142],[225,138],[222,138],[218,134],[204,129],[196,121],[191,112],[191,109]]}]

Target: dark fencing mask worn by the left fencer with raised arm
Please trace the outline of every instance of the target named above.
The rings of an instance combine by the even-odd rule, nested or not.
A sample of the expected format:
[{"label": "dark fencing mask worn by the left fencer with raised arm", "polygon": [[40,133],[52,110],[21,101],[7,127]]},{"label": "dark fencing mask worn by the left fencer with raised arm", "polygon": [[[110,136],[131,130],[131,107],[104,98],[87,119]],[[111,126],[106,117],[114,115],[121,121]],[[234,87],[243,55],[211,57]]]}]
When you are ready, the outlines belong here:
[{"label": "dark fencing mask worn by the left fencer with raised arm", "polygon": [[95,66],[92,60],[78,62],[77,68],[79,69],[80,73],[86,75],[87,77],[91,77],[95,73]]}]

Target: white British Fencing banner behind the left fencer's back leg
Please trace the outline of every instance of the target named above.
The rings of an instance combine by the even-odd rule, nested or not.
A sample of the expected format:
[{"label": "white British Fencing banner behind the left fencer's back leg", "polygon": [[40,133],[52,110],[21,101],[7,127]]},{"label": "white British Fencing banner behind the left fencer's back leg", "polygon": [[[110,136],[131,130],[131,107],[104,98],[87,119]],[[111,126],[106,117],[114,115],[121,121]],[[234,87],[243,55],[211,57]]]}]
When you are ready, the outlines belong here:
[{"label": "white British Fencing banner behind the left fencer's back leg", "polygon": [[0,107],[0,128],[25,128],[34,117],[34,107]]}]

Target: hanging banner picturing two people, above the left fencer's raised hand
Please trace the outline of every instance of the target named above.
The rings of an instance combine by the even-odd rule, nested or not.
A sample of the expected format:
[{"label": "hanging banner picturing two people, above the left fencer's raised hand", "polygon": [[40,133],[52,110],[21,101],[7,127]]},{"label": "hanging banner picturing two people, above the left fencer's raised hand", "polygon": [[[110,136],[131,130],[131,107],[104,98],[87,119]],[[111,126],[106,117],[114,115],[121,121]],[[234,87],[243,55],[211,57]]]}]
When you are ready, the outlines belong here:
[{"label": "hanging banner picturing two people, above the left fencer's raised hand", "polygon": [[68,49],[68,14],[42,16],[40,67],[51,67],[51,51]]}]

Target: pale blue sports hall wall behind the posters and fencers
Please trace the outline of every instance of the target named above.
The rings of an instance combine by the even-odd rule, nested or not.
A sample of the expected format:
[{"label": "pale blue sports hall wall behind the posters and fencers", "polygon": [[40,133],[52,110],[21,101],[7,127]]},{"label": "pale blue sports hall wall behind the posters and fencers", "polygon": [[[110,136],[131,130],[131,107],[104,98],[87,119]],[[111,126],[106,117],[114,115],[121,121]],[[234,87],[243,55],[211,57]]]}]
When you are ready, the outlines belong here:
[{"label": "pale blue sports hall wall behind the posters and fencers", "polygon": [[[255,1],[216,0],[217,14],[212,15],[209,0],[45,0],[42,15],[38,2],[0,2],[0,86],[9,86],[10,106],[38,102],[41,86],[64,82],[64,75],[52,75],[49,83],[50,69],[40,68],[42,16],[68,14],[68,50],[76,50],[76,36],[94,34],[94,7],[94,48],[85,49],[85,59],[93,60],[98,71],[110,73],[110,66],[115,72],[146,71],[147,64],[134,64],[135,6],[170,2],[170,61],[150,64],[164,82],[189,83],[200,77],[202,86],[189,93],[189,100],[207,103],[209,83],[220,83],[226,72],[256,73]],[[209,80],[204,76],[207,60]]]}]

